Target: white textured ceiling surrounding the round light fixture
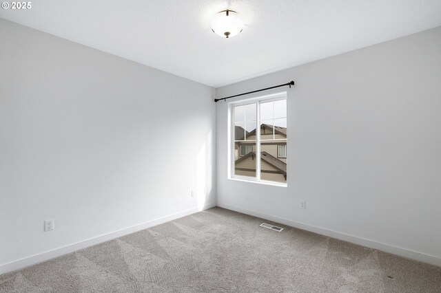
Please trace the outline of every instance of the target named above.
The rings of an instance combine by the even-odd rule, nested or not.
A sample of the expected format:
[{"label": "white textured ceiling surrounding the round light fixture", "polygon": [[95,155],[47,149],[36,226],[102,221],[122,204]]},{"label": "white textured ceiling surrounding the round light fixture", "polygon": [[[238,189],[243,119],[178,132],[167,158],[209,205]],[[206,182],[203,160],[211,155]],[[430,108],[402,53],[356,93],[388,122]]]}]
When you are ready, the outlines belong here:
[{"label": "white textured ceiling surrounding the round light fixture", "polygon": [[[231,39],[209,25],[226,8],[245,21]],[[39,0],[0,17],[219,87],[435,28],[441,1]]]}]

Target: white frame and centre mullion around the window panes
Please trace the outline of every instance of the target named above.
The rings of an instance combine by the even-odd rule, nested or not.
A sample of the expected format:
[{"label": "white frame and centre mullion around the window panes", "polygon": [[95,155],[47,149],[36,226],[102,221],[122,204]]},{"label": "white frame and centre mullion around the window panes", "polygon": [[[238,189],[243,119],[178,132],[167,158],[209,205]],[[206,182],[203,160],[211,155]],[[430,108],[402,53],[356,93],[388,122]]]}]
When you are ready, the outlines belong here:
[{"label": "white frame and centre mullion around the window panes", "polygon": [[[274,181],[267,181],[267,180],[261,180],[260,179],[260,155],[256,155],[256,177],[249,177],[249,176],[241,176],[241,175],[234,175],[234,107],[236,106],[242,106],[242,105],[248,105],[251,103],[256,103],[256,153],[260,153],[260,127],[258,127],[258,124],[260,123],[260,103],[261,102],[271,102],[276,100],[287,100],[288,105],[288,99],[287,99],[287,92],[279,92],[276,94],[269,94],[266,96],[258,96],[255,98],[248,98],[245,100],[238,100],[228,103],[228,133],[229,133],[229,140],[228,140],[228,174],[227,178],[229,180],[237,180],[237,181],[243,181],[243,182],[253,182],[258,184],[266,184],[266,185],[274,185],[274,186],[288,186],[288,180],[286,183],[282,182],[274,182]],[[287,113],[287,123],[288,123],[288,113]],[[288,138],[288,137],[287,137]],[[286,142],[288,144],[288,139],[284,139],[283,142]],[[240,156],[240,148],[239,148],[239,157]]]}]

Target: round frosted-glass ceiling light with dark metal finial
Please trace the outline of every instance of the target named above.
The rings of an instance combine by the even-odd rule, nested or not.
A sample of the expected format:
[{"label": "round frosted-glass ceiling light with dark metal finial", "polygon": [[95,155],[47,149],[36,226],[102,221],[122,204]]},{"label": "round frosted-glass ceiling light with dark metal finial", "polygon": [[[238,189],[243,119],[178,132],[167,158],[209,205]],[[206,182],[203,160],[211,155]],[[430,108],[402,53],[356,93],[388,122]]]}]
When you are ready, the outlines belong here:
[{"label": "round frosted-glass ceiling light with dark metal finial", "polygon": [[243,21],[239,14],[233,10],[223,10],[214,15],[212,19],[212,31],[223,38],[236,36],[243,30]]}]

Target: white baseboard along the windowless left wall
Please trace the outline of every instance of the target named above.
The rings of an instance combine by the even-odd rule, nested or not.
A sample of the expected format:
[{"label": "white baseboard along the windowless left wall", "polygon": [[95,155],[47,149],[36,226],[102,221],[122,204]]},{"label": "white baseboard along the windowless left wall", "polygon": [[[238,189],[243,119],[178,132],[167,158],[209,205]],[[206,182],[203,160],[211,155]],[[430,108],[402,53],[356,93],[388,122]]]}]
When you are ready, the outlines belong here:
[{"label": "white baseboard along the windowless left wall", "polygon": [[[205,204],[202,210],[207,210],[208,208],[213,208],[216,206],[216,203]],[[42,261],[48,261],[49,259],[53,259],[54,257],[61,257],[61,255],[68,254],[70,252],[74,252],[76,250],[80,250],[83,248],[87,248],[89,246],[94,246],[99,243],[103,243],[105,241],[109,241],[124,235],[128,235],[133,232],[137,232],[139,230],[143,230],[146,228],[150,228],[152,226],[156,226],[159,224],[163,224],[167,221],[172,221],[174,219],[178,219],[181,217],[185,217],[187,215],[192,215],[197,213],[201,209],[198,208],[190,208],[189,210],[183,210],[178,213],[174,213],[172,215],[167,215],[164,217],[160,217],[157,219],[153,219],[151,221],[146,221],[141,224],[137,224],[134,226],[130,226],[121,230],[117,230],[114,232],[110,232],[104,235],[100,235],[97,237],[93,237],[90,239],[85,239],[83,241],[79,241],[76,243],[69,244],[68,246],[63,246],[60,248],[55,248],[53,250],[48,250],[45,252],[41,252],[39,254],[34,254],[30,257],[25,257],[23,259],[18,259],[17,261],[11,261],[9,263],[3,263],[0,265],[0,274],[5,274],[6,272],[11,272],[14,270],[19,270],[21,268],[25,268],[29,265],[34,265],[35,263],[41,263]]]}]

